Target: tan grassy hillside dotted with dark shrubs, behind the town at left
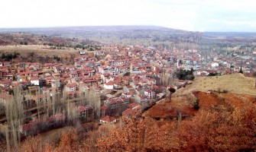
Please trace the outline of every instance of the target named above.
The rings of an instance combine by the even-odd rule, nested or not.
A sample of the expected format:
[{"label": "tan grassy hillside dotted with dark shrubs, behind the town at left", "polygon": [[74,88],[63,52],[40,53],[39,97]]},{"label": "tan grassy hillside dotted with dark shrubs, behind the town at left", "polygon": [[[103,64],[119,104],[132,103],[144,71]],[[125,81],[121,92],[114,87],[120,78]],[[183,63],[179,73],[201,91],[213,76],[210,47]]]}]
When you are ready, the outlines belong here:
[{"label": "tan grassy hillside dotted with dark shrubs, behind the town at left", "polygon": [[[79,40],[31,33],[0,33],[0,52],[19,53],[12,62],[61,62],[70,64],[86,46],[100,46],[91,40]],[[0,61],[8,61],[0,59]]]}]

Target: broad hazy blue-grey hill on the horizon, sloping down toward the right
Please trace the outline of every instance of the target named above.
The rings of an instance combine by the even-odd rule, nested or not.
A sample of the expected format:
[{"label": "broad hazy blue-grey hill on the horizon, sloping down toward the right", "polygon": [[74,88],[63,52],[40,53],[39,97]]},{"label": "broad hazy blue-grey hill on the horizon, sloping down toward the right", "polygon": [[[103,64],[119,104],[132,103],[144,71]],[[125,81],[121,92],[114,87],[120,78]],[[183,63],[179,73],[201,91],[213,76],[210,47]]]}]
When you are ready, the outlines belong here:
[{"label": "broad hazy blue-grey hill on the horizon, sloping down toward the right", "polygon": [[201,33],[156,26],[91,26],[0,29],[0,33],[25,32],[45,36],[58,36],[118,43],[172,48],[185,43],[198,43]]}]

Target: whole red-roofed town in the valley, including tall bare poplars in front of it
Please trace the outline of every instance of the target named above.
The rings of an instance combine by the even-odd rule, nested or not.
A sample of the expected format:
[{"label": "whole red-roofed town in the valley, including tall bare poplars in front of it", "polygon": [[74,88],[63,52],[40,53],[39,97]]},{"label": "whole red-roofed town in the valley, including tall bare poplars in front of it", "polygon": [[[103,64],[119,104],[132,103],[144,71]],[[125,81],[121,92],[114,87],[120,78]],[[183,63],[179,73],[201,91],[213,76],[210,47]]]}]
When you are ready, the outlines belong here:
[{"label": "whole red-roofed town in the valley, including tall bare poplars in front of it", "polygon": [[[67,119],[71,124],[78,120],[116,122],[120,116],[131,116],[135,109],[150,108],[169,93],[169,88],[186,87],[195,77],[238,72],[252,75],[256,71],[251,66],[256,64],[255,51],[203,55],[196,49],[105,44],[101,50],[74,52],[78,55],[73,65],[2,62],[2,124],[11,119],[5,106],[14,100],[12,95],[19,98],[24,112],[19,117],[19,130],[33,135],[63,126]],[[45,123],[47,127],[38,130]]]}]

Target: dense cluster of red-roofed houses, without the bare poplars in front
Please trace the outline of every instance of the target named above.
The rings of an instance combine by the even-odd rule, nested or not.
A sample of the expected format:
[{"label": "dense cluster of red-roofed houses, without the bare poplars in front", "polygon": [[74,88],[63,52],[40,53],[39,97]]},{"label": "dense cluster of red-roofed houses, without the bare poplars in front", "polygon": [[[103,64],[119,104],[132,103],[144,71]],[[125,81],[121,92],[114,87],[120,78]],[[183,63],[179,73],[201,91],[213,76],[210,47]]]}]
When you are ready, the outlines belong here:
[{"label": "dense cluster of red-roofed houses, without the bare poplars in front", "polygon": [[[240,68],[247,73],[256,71],[249,66],[254,62],[251,58],[234,60],[225,56],[209,56],[203,56],[195,49],[157,50],[154,47],[106,44],[102,50],[94,51],[94,57],[80,52],[73,59],[73,65],[0,62],[0,92],[7,94],[15,84],[21,84],[24,87],[38,86],[41,94],[64,89],[73,98],[93,87],[103,96],[100,122],[115,122],[113,111],[121,109],[121,113],[129,116],[143,103],[164,97],[168,87],[177,89],[186,84],[186,81],[159,83],[163,74],[173,78],[177,68],[193,68],[195,76],[207,76],[214,72],[227,74]],[[238,64],[241,62],[245,62],[245,66]],[[80,107],[81,116],[83,112],[86,109]],[[33,124],[25,125],[22,130]]]}]

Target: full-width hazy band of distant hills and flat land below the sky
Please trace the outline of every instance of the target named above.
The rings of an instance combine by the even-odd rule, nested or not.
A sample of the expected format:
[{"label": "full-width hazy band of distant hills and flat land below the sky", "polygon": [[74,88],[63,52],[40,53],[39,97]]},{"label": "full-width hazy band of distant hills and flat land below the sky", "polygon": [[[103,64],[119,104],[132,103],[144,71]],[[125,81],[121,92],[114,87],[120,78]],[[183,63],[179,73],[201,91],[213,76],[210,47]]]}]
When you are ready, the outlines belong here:
[{"label": "full-width hazy band of distant hills and flat land below the sky", "polygon": [[[214,43],[256,42],[256,33],[235,32],[191,32],[157,26],[86,26],[86,27],[41,27],[41,28],[0,28],[0,33],[31,33],[41,36],[122,45],[154,46],[157,49],[199,49]],[[0,40],[0,43],[3,43]]]}]

